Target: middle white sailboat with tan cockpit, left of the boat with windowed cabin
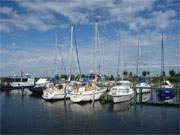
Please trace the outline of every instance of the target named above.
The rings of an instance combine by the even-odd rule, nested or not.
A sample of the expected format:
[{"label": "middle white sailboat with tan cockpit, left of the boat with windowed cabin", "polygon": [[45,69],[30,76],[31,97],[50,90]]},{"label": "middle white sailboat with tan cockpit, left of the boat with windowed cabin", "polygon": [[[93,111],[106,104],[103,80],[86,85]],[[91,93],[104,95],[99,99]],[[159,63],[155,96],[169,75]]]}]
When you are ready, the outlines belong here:
[{"label": "middle white sailboat with tan cockpit, left of the boat with windowed cabin", "polygon": [[[95,40],[96,45],[98,44],[98,23],[95,24],[95,34],[97,40]],[[99,66],[100,70],[100,66]],[[72,102],[88,102],[99,100],[100,97],[106,92],[107,88],[97,86],[97,76],[94,80],[86,84],[77,83],[77,89],[73,90],[70,95],[70,100]]]}]

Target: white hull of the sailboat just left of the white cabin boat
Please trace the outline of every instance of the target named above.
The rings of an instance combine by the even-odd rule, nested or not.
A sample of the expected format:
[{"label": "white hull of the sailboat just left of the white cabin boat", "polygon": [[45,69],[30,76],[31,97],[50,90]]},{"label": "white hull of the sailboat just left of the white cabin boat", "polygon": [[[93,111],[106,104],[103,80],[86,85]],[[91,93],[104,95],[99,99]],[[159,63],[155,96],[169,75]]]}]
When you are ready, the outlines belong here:
[{"label": "white hull of the sailboat just left of the white cabin boat", "polygon": [[100,97],[106,92],[106,88],[102,90],[92,90],[84,92],[71,93],[70,100],[72,102],[88,102],[93,100],[99,100]]}]

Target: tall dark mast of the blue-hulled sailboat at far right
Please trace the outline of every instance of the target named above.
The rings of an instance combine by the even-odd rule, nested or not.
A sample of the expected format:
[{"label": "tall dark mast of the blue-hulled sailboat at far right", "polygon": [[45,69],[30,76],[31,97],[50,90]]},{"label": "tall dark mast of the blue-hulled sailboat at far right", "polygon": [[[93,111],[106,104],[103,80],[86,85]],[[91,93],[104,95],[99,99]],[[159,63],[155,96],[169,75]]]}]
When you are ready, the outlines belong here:
[{"label": "tall dark mast of the blue-hulled sailboat at far right", "polygon": [[164,42],[163,42],[163,33],[161,34],[161,82],[165,81],[164,73]]}]

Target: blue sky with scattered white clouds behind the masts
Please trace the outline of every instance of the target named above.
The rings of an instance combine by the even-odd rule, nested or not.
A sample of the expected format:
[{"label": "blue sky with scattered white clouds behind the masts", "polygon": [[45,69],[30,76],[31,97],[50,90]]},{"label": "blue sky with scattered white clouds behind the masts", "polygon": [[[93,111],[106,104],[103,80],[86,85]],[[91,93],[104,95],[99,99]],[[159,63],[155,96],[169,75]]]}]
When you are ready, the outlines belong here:
[{"label": "blue sky with scattered white clouds behind the masts", "polygon": [[135,73],[139,39],[140,72],[159,74],[162,32],[165,70],[179,72],[179,10],[179,0],[0,0],[0,76],[20,71],[53,76],[65,73],[64,67],[69,73],[70,63],[78,73],[75,49],[69,53],[71,25],[82,72],[98,72],[95,22],[104,54],[102,73],[117,73],[119,46],[119,73]]}]

